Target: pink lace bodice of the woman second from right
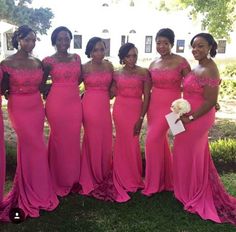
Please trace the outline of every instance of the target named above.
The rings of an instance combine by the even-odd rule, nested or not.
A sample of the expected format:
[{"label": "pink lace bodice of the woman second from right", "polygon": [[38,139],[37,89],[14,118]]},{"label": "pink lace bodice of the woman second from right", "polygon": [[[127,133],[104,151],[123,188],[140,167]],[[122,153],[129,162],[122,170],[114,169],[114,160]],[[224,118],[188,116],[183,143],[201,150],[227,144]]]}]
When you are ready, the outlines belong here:
[{"label": "pink lace bodice of the woman second from right", "polygon": [[182,70],[189,67],[189,64],[184,60],[179,66],[175,68],[151,68],[150,73],[152,77],[152,84],[155,88],[161,89],[181,89]]}]

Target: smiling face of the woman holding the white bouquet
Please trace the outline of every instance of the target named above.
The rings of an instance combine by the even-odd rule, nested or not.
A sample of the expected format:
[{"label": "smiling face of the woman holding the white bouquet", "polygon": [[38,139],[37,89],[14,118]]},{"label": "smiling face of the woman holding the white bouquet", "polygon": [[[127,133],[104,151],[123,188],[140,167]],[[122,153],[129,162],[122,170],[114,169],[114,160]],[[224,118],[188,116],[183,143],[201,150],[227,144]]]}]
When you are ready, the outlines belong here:
[{"label": "smiling face of the woman holding the white bouquet", "polygon": [[192,44],[192,54],[195,60],[202,60],[207,57],[211,46],[202,37],[196,37]]}]

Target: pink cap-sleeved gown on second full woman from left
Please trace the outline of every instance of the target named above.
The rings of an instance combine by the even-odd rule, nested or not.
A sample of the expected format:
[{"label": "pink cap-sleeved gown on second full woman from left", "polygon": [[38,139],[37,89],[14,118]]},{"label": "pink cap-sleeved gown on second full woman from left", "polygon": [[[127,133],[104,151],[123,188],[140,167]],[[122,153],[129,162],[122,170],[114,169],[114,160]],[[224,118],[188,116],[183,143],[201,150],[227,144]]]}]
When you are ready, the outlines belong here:
[{"label": "pink cap-sleeved gown on second full woman from left", "polygon": [[75,61],[58,62],[46,57],[51,67],[52,87],[46,100],[46,116],[50,126],[49,167],[57,195],[66,196],[79,186],[80,130],[82,121],[78,82],[80,57]]}]

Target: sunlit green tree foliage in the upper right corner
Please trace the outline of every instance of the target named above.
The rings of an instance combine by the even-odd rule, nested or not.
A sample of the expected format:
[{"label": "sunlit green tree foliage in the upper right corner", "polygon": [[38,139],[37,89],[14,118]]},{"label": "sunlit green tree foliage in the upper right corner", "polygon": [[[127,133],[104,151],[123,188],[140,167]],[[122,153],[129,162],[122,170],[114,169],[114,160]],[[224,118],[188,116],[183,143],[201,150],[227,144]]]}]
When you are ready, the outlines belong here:
[{"label": "sunlit green tree foliage in the upper right corner", "polygon": [[190,7],[191,14],[203,16],[202,25],[215,38],[230,39],[236,19],[236,0],[177,0],[183,7]]}]

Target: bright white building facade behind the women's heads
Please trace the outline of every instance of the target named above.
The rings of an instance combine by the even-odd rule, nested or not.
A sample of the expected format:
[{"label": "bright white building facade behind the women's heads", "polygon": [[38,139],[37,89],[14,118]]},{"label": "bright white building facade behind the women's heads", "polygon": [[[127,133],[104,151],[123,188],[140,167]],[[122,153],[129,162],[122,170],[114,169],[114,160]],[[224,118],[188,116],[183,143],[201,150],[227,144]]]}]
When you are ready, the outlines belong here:
[{"label": "bright white building facade behind the women's heads", "polygon": [[[73,1],[70,1],[73,2]],[[151,61],[156,56],[155,36],[161,28],[171,28],[175,32],[175,45],[173,52],[186,58],[192,58],[190,40],[201,32],[201,23],[192,20],[187,11],[157,11],[150,7],[145,0],[86,0],[77,2],[70,11],[60,7],[61,11],[55,13],[52,28],[48,35],[40,36],[34,53],[40,59],[55,52],[51,46],[50,35],[57,26],[67,26],[73,34],[70,52],[78,53],[82,62],[86,62],[85,47],[93,36],[104,39],[107,45],[107,58],[114,64],[119,62],[118,50],[120,46],[129,41],[139,50],[140,61]],[[58,3],[59,4],[59,3]],[[65,2],[63,4],[66,4]],[[68,1],[68,4],[69,3]],[[30,26],[30,25],[29,25]],[[232,33],[232,43],[225,39],[219,42],[219,58],[235,57],[236,35]],[[3,54],[9,53],[6,41],[3,39]],[[9,44],[9,42],[8,42]],[[4,56],[4,55],[3,55]]]}]

